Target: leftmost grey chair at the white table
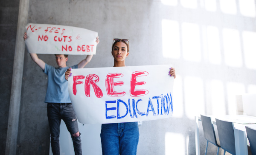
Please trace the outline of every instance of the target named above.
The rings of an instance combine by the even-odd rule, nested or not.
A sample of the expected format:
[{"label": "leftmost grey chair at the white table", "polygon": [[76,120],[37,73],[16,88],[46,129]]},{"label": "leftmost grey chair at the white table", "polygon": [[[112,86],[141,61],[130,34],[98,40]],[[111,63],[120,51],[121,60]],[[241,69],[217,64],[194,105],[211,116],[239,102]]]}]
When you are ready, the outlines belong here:
[{"label": "leftmost grey chair at the white table", "polygon": [[203,130],[204,130],[204,138],[207,140],[205,155],[207,154],[208,142],[211,142],[212,144],[218,147],[218,150],[217,150],[217,155],[218,155],[218,152],[221,146],[218,139],[216,139],[212,120],[210,117],[201,115],[201,121],[202,121]]}]

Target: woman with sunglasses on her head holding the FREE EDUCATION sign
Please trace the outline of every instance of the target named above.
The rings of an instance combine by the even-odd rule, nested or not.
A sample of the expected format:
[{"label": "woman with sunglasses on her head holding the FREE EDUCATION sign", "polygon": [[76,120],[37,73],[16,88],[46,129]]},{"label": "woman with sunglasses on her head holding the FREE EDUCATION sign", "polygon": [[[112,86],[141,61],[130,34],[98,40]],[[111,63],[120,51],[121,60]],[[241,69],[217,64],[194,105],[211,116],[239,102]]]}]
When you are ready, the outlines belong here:
[{"label": "woman with sunglasses on her head holding the FREE EDUCATION sign", "polygon": [[[115,41],[115,42],[114,42]],[[129,55],[128,39],[113,39],[111,54],[114,58],[113,67],[124,67],[125,58]],[[175,69],[170,68],[170,76],[176,78]],[[70,69],[65,73],[65,79],[71,76]],[[139,142],[137,122],[102,124],[101,130],[103,155],[136,155]]]}]

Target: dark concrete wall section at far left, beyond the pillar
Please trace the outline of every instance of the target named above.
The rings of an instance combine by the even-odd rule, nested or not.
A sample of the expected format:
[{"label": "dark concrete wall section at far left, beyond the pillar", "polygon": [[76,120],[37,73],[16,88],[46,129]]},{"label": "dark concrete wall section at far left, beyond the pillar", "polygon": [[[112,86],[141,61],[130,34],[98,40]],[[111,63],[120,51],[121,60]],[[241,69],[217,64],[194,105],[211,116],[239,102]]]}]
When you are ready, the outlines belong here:
[{"label": "dark concrete wall section at far left, beyond the pillar", "polygon": [[0,0],[0,155],[4,155],[12,87],[19,0]]}]

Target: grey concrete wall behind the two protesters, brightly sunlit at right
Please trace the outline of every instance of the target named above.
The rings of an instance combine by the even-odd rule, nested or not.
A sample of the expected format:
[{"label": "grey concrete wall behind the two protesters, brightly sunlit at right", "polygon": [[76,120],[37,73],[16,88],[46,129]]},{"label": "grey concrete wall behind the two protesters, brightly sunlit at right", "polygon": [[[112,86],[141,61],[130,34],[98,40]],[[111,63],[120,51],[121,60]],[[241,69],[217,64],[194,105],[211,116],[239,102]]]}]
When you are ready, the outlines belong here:
[{"label": "grey concrete wall behind the two protesters, brightly sunlit at right", "polygon": [[[137,154],[194,155],[194,116],[235,114],[235,95],[256,93],[255,12],[255,0],[30,0],[28,22],[97,31],[97,54],[86,68],[113,66],[113,38],[130,40],[128,66],[172,64],[173,117],[143,121]],[[38,56],[56,66],[53,55]],[[84,58],[69,56],[67,65]],[[17,154],[47,155],[47,76],[27,53],[22,85]]]}]

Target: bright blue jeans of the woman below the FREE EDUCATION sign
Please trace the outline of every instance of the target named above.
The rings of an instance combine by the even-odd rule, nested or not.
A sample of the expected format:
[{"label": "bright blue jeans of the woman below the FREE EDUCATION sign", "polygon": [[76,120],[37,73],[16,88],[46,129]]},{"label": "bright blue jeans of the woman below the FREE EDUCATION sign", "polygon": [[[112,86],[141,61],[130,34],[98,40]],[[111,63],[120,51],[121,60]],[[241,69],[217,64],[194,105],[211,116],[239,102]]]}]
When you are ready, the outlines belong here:
[{"label": "bright blue jeans of the woman below the FREE EDUCATION sign", "polygon": [[103,155],[136,155],[138,122],[102,124],[100,138]]}]

